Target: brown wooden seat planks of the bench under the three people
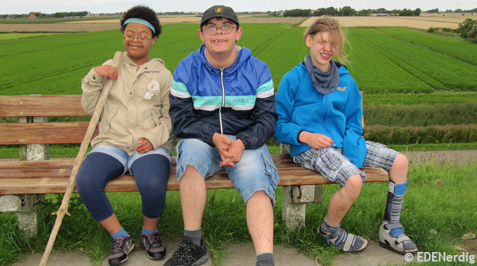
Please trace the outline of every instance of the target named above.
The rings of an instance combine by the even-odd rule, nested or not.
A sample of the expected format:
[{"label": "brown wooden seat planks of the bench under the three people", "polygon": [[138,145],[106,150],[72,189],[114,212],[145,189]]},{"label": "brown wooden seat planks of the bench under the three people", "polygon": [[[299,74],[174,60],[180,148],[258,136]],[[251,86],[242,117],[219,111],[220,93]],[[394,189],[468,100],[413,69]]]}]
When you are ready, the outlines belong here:
[{"label": "brown wooden seat planks of the bench under the three people", "polygon": [[[289,155],[272,154],[272,158],[279,169],[279,186],[331,183],[316,172],[303,169],[301,166],[293,163]],[[0,195],[64,193],[73,164],[74,160],[72,159],[0,162]],[[387,173],[381,168],[365,168],[363,171],[368,176],[367,182],[388,180]],[[208,178],[206,186],[209,189],[234,187],[224,171],[220,171],[213,177]],[[177,176],[175,175],[175,163],[173,163],[171,168],[167,189],[179,189]],[[112,180],[108,183],[105,190],[107,192],[138,191],[134,177],[131,175],[124,175]]]}]

